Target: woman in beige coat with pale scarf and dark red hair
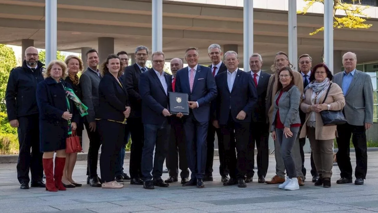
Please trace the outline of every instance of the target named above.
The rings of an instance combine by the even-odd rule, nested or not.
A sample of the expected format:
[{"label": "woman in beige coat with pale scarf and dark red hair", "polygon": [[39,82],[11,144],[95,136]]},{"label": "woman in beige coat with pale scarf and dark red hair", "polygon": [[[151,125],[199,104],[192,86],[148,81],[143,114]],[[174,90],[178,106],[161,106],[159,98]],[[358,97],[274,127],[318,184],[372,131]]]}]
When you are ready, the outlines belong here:
[{"label": "woman in beige coat with pale scarf and dark red hair", "polygon": [[[325,64],[316,65],[310,74],[310,84],[304,89],[303,101],[300,109],[306,113],[299,138],[306,136],[310,140],[316,171],[319,180],[315,186],[331,187],[333,166],[333,139],[336,137],[336,125],[323,125],[320,112],[323,110],[342,110],[345,105],[341,88],[332,83],[332,73]],[[325,99],[328,87],[330,91]],[[323,104],[322,104],[323,103]]]}]

